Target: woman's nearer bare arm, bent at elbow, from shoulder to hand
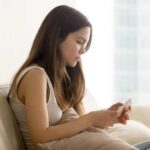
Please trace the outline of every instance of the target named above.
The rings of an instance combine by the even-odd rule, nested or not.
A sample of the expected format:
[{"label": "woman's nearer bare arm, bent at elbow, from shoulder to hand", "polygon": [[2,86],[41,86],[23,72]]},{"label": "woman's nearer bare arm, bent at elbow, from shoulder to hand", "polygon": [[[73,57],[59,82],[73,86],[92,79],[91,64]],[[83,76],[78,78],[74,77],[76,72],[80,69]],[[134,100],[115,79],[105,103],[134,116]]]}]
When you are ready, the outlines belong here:
[{"label": "woman's nearer bare arm, bent at elbow, from shoulder to hand", "polygon": [[108,120],[115,118],[110,111],[95,111],[64,124],[49,126],[46,88],[45,73],[39,69],[29,71],[20,83],[20,92],[26,106],[29,134],[35,143],[71,137],[91,126],[104,128]]}]

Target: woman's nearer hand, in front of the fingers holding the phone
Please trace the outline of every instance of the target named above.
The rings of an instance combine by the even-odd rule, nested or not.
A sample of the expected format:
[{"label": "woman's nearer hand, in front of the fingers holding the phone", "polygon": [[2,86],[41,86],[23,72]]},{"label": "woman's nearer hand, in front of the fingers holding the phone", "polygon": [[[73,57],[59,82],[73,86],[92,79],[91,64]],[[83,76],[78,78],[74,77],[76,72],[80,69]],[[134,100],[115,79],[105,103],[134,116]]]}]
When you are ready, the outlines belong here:
[{"label": "woman's nearer hand, in front of the fingers holding the phone", "polygon": [[108,128],[118,122],[117,112],[111,110],[92,111],[89,113],[92,126],[96,128]]}]

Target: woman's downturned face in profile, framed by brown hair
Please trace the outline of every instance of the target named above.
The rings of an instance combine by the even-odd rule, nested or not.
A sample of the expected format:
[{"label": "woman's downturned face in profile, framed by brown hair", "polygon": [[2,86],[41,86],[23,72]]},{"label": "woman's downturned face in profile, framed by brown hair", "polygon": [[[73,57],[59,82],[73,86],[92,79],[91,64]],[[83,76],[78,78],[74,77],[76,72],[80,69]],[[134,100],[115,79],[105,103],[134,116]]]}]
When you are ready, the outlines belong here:
[{"label": "woman's downturned face in profile, framed by brown hair", "polygon": [[76,66],[81,54],[85,52],[90,34],[90,27],[84,27],[70,33],[65,40],[60,43],[59,48],[67,66]]}]

